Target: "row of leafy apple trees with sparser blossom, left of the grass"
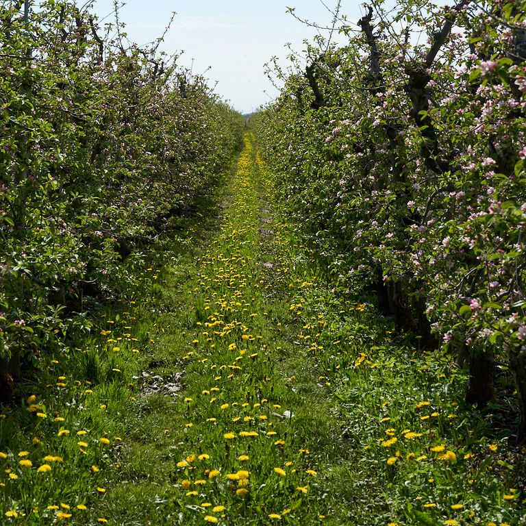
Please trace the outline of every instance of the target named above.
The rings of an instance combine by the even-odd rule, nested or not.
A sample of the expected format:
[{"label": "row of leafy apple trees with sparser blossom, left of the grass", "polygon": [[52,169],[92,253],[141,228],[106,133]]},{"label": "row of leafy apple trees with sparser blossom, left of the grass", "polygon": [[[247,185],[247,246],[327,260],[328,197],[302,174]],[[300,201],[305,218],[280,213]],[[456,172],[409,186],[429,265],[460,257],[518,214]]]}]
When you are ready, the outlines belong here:
[{"label": "row of leafy apple trees with sparser blossom, left of the grass", "polygon": [[143,249],[208,191],[241,128],[201,77],[157,53],[161,39],[130,45],[90,5],[26,4],[0,4],[4,398],[21,359],[67,352],[90,305],[134,283]]}]

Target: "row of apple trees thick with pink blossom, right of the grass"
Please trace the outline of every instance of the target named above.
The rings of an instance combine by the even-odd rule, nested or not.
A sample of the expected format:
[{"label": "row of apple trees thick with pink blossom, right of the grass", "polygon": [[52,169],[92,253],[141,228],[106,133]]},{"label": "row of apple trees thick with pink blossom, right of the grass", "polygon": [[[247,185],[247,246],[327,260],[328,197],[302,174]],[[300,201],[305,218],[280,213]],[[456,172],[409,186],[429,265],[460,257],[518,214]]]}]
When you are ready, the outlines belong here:
[{"label": "row of apple trees thick with pink blossom, right of the grass", "polygon": [[343,288],[469,368],[468,402],[511,371],[524,440],[526,3],[368,4],[335,13],[346,45],[275,70],[257,121],[278,197]]}]

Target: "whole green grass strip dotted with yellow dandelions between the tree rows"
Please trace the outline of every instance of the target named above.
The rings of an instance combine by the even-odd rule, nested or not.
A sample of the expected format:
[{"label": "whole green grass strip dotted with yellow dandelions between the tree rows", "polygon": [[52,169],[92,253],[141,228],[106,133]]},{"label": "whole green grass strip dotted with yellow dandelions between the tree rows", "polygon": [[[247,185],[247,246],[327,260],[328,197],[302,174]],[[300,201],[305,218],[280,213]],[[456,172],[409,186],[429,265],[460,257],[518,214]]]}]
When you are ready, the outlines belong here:
[{"label": "whole green grass strip dotted with yellow dandelions between the tree rows", "polygon": [[[135,303],[25,387],[42,409],[3,410],[6,522],[524,523],[520,458],[462,403],[462,371],[335,289],[269,192],[247,136]],[[45,455],[62,461],[38,473]]]}]

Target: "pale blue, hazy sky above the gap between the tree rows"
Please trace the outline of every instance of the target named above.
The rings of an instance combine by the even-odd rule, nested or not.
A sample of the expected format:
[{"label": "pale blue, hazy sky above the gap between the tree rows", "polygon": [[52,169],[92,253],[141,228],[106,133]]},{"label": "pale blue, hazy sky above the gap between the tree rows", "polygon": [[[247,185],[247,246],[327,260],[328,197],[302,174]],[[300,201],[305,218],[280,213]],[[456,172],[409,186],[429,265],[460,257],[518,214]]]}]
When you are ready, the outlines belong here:
[{"label": "pale blue, hazy sky above the gap between the tree rows", "polygon": [[[160,45],[169,55],[180,53],[177,62],[208,79],[221,99],[241,113],[269,103],[278,90],[265,74],[264,64],[277,57],[286,68],[290,49],[301,53],[303,40],[316,30],[302,19],[329,25],[336,0],[123,0],[119,19],[129,40],[145,45],[162,36],[172,12],[176,16]],[[114,0],[95,0],[100,23],[114,21]],[[362,15],[360,2],[342,0],[342,14],[349,21]],[[341,38],[340,36],[336,38]]]}]

